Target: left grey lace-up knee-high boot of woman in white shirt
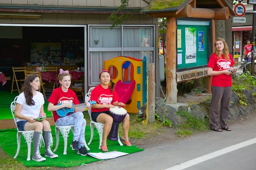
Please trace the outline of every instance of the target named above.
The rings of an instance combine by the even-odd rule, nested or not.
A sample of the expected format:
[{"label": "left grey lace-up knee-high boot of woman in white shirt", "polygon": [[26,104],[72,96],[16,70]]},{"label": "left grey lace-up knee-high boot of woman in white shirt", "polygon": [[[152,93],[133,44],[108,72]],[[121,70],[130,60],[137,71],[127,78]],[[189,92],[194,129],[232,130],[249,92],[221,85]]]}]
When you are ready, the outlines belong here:
[{"label": "left grey lace-up knee-high boot of woman in white shirt", "polygon": [[43,158],[40,154],[39,146],[40,146],[40,139],[41,139],[41,132],[34,132],[33,135],[33,156],[32,160],[36,162],[41,162],[46,160],[46,158]]}]

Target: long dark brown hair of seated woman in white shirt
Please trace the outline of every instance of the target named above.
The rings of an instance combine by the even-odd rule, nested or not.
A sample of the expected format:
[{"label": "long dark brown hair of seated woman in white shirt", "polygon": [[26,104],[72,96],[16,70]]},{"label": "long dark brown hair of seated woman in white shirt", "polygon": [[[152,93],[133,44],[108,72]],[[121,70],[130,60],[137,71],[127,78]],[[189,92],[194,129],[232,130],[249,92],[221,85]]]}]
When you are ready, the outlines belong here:
[{"label": "long dark brown hair of seated woman in white shirt", "polygon": [[36,77],[39,77],[36,74],[30,74],[26,77],[24,81],[24,85],[22,86],[22,91],[24,92],[25,99],[26,99],[26,104],[29,106],[35,105],[33,98],[33,93],[32,93],[32,87],[30,85],[30,82],[34,81]]}]

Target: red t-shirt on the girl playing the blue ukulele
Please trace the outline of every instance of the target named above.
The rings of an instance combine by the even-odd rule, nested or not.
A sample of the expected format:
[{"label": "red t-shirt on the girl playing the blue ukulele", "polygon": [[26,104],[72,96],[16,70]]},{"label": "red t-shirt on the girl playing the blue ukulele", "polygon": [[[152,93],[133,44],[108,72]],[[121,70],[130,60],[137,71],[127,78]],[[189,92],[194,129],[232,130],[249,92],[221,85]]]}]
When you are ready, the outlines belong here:
[{"label": "red t-shirt on the girl playing the blue ukulele", "polygon": [[[49,97],[48,102],[51,102],[53,105],[57,105],[59,103],[73,103],[74,105],[78,105],[80,103],[74,91],[68,88],[68,91],[64,92],[61,87],[52,91],[52,95]],[[52,111],[52,113],[54,122],[56,122],[60,117],[57,115],[56,111]],[[70,114],[68,113],[67,115]]]}]

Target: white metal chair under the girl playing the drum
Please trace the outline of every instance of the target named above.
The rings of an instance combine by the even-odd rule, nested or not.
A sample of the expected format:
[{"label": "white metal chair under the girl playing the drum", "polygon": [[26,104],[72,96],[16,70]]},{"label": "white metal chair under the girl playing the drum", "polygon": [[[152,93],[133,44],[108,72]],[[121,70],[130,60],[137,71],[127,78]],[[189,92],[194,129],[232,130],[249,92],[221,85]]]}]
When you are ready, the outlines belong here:
[{"label": "white metal chair under the girl playing the drum", "polygon": [[[88,93],[85,95],[85,101],[86,101],[86,102],[90,101],[91,92],[92,92],[93,89],[94,89],[94,87],[90,88],[89,91],[88,91]],[[91,138],[90,138],[90,141],[89,141],[88,145],[90,145],[91,142],[92,142],[92,138],[93,138],[93,134],[94,134],[93,128],[94,128],[94,126],[95,126],[96,129],[98,130],[98,133],[99,133],[99,138],[100,138],[99,149],[100,149],[101,142],[102,142],[102,135],[103,135],[104,123],[98,123],[98,122],[94,122],[94,121],[92,120],[92,116],[91,116],[92,111],[91,111],[91,109],[88,110],[88,113],[89,113],[90,120],[91,120],[91,122],[90,122]],[[118,142],[119,142],[120,146],[123,146],[123,144],[122,144],[122,142],[121,142],[121,140],[120,140],[120,138],[119,138],[119,135],[118,135]]]}]

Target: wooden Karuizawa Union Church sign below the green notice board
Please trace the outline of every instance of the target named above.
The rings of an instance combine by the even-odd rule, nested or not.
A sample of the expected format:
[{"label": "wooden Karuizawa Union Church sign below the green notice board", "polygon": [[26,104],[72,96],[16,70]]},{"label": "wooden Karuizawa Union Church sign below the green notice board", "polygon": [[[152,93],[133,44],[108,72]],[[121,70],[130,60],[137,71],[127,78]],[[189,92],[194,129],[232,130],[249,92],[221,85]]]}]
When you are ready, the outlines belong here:
[{"label": "wooden Karuizawa Union Church sign below the green notice board", "polygon": [[202,69],[194,69],[189,71],[177,72],[177,83],[188,80],[194,80],[202,77],[207,77],[207,67]]}]

